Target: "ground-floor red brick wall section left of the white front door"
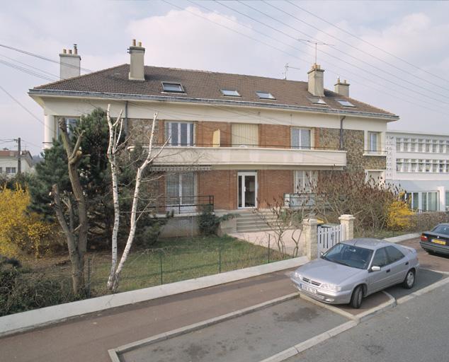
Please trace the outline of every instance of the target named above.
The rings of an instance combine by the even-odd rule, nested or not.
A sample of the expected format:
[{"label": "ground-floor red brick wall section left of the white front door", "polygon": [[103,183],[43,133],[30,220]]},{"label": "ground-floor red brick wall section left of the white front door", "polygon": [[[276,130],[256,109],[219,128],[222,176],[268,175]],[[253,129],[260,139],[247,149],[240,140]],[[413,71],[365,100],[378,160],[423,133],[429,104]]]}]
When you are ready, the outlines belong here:
[{"label": "ground-floor red brick wall section left of the white front door", "polygon": [[215,209],[237,209],[237,170],[198,173],[198,194],[214,195]]}]

